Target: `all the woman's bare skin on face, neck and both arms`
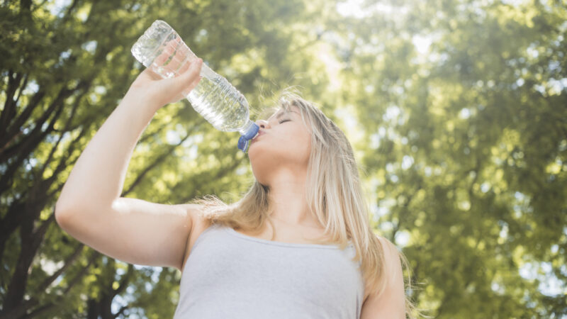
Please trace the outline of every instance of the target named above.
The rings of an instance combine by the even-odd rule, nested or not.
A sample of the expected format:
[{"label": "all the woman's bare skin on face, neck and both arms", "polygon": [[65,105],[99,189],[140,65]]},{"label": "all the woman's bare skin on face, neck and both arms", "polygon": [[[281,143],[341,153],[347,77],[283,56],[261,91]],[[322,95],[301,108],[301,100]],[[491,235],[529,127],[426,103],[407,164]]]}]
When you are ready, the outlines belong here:
[{"label": "all the woman's bare skin on face, neck and both arms", "polygon": [[[143,130],[159,108],[183,99],[198,84],[201,66],[202,60],[195,60],[169,79],[161,79],[150,69],[140,73],[82,152],[62,189],[55,218],[69,235],[123,262],[182,271],[191,247],[206,228],[199,217],[201,208],[151,203],[120,194]],[[254,176],[271,189],[273,219],[280,234],[276,240],[283,242],[296,242],[302,233],[313,234],[317,227],[303,195],[310,130],[303,125],[298,109],[292,111],[296,113],[284,114],[281,119],[276,114],[258,121],[264,134],[249,147]],[[365,298],[362,319],[404,318],[400,263],[395,246],[383,241],[389,247],[384,267],[391,280],[381,296]]]}]

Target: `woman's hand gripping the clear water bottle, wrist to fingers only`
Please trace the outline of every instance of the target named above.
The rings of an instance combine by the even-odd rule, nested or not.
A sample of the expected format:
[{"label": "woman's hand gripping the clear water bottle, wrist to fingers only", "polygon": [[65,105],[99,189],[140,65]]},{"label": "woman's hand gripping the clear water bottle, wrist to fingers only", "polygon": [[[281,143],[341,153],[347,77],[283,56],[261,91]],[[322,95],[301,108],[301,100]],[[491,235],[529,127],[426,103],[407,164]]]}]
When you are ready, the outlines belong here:
[{"label": "woman's hand gripping the clear water bottle, wrist to fingers only", "polygon": [[[164,53],[156,58],[157,65],[160,65],[160,60],[169,57],[169,52],[166,51],[164,50]],[[148,67],[130,85],[126,96],[131,96],[142,103],[148,103],[157,111],[169,103],[184,99],[201,80],[199,74],[202,66],[203,60],[199,58],[186,62],[175,77],[167,79],[160,77]]]}]

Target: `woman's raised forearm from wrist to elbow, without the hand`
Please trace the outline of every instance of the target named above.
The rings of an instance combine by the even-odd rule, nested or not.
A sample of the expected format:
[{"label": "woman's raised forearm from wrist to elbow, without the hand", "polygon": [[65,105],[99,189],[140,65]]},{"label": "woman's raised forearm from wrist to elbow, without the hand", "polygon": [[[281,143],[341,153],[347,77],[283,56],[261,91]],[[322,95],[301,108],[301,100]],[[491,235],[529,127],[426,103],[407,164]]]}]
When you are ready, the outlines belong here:
[{"label": "woman's raised forearm from wrist to elbow, without the hand", "polygon": [[74,164],[56,211],[109,208],[123,190],[128,163],[157,108],[126,94]]}]

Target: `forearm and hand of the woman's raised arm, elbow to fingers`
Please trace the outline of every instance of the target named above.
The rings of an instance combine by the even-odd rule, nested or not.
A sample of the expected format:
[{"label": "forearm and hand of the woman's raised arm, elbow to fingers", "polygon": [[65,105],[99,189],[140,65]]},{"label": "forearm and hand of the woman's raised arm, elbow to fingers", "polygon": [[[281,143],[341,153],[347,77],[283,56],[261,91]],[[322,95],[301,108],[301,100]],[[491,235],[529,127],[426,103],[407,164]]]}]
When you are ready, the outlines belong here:
[{"label": "forearm and hand of the woman's raised arm, elbow to fingers", "polygon": [[183,92],[191,91],[201,79],[203,60],[195,62],[186,64],[180,75],[172,78],[162,79],[151,69],[138,75],[77,159],[57,200],[58,218],[64,212],[111,211],[122,194],[134,147],[157,110],[179,101]]}]

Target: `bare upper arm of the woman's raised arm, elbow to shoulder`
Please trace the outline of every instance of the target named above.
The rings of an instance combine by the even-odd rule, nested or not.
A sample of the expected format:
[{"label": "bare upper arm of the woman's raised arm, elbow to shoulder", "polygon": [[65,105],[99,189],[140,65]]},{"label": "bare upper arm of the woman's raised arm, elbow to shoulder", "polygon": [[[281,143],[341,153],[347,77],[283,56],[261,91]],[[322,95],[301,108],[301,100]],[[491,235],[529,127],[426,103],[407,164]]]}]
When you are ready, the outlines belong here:
[{"label": "bare upper arm of the woman's raised arm, elbow to shoulder", "polygon": [[109,257],[181,269],[198,210],[193,204],[167,205],[121,197],[105,211],[77,208],[57,212],[56,217],[69,235]]}]

